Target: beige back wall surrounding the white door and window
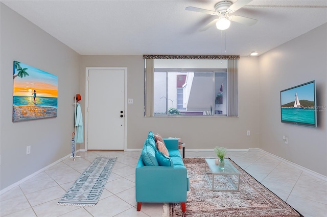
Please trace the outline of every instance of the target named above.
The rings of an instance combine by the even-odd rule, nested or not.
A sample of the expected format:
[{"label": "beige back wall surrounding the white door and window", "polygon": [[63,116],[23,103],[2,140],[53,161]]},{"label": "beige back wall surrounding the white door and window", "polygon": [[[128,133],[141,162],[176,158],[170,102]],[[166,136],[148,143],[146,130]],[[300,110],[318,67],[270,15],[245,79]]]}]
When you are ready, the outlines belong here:
[{"label": "beige back wall surrounding the white door and window", "polygon": [[[217,145],[230,149],[259,146],[258,58],[242,57],[239,61],[240,117],[144,117],[142,56],[82,56],[80,86],[84,94],[85,67],[127,67],[127,98],[134,99],[133,104],[127,104],[128,149],[141,149],[149,131],[163,137],[181,137],[187,149],[213,149]],[[251,131],[251,136],[246,136],[247,130]]]}]

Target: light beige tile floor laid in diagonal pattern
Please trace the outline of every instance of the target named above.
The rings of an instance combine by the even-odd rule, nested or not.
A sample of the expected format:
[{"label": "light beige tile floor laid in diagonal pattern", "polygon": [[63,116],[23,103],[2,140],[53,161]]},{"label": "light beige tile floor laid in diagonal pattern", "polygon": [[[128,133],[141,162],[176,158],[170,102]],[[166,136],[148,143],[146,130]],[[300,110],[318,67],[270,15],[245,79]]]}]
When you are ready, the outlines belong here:
[{"label": "light beige tile floor laid in diagonal pattern", "polygon": [[[136,211],[135,166],[141,152],[79,152],[0,196],[0,216],[162,216],[162,204],[143,204]],[[97,156],[117,156],[98,204],[94,207],[59,206],[58,200]],[[215,157],[213,152],[188,152],[185,157]],[[327,216],[327,182],[263,152],[228,152],[245,171],[306,217]],[[186,204],[187,207],[187,204]]]}]

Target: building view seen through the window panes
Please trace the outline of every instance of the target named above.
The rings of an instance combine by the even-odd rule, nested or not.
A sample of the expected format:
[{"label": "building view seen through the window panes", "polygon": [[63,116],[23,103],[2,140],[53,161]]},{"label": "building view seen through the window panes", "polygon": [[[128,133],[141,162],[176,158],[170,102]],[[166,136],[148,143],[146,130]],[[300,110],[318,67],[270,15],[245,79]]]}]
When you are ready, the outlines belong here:
[{"label": "building view seen through the window panes", "polygon": [[185,70],[155,70],[154,115],[226,115],[226,71]]}]

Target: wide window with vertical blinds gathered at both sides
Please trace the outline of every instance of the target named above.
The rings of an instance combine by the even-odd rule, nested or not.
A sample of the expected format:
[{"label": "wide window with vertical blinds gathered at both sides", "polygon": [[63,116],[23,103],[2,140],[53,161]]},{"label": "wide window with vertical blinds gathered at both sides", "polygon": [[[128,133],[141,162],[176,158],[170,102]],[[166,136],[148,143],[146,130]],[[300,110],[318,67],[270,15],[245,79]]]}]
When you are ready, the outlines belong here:
[{"label": "wide window with vertical blinds gathered at both sides", "polygon": [[231,73],[227,60],[155,59],[146,67],[145,116],[237,116],[235,64]]}]

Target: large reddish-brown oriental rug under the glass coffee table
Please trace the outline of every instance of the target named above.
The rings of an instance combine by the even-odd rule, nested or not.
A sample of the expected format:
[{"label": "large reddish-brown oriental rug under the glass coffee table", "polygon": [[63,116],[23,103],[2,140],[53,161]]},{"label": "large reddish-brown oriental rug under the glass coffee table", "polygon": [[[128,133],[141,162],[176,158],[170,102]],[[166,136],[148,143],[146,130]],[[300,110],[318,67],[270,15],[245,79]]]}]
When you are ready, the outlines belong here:
[{"label": "large reddish-brown oriental rug under the glass coffee table", "polygon": [[[182,213],[179,203],[170,203],[170,217],[303,217],[232,160],[230,162],[241,173],[240,191],[212,191],[204,176],[205,160],[183,159],[183,161],[190,179],[186,212]],[[215,183],[225,182],[224,176],[215,177],[218,177]]]}]

